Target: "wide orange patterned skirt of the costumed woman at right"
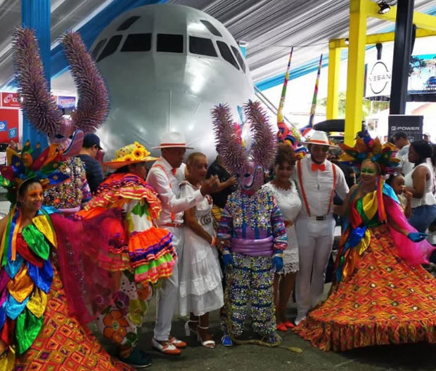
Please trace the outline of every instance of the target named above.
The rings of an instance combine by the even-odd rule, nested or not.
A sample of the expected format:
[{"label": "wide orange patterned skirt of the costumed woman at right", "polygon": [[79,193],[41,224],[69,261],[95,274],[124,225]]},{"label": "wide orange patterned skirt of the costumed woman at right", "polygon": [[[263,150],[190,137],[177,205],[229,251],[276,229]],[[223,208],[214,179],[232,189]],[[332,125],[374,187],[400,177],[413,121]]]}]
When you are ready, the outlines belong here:
[{"label": "wide orange patterned skirt of the costumed woman at right", "polygon": [[435,278],[399,257],[385,227],[369,230],[370,245],[350,278],[334,284],[294,331],[322,351],[435,343]]}]

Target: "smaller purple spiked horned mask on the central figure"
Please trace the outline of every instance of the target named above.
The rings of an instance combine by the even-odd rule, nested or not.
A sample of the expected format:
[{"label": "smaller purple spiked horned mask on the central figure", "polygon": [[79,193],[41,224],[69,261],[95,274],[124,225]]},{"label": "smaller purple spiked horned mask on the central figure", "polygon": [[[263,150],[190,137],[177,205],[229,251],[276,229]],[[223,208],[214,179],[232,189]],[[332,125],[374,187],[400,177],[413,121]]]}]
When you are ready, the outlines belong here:
[{"label": "smaller purple spiked horned mask on the central figure", "polygon": [[244,105],[250,124],[253,144],[247,150],[234,131],[228,105],[217,105],[212,111],[217,151],[222,162],[233,175],[244,193],[255,193],[264,183],[264,170],[270,169],[276,155],[276,138],[268,123],[267,113],[259,102],[251,100]]}]

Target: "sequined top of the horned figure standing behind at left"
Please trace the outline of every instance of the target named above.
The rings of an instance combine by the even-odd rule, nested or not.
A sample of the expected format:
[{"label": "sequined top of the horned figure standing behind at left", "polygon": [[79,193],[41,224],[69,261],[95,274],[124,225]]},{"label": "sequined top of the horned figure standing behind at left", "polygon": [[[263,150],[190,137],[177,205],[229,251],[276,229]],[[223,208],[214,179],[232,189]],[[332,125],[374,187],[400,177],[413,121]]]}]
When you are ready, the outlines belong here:
[{"label": "sequined top of the horned figure standing behind at left", "polygon": [[63,212],[79,211],[83,203],[91,200],[84,164],[78,157],[70,157],[63,162],[59,171],[66,174],[68,180],[46,190],[44,204]]}]

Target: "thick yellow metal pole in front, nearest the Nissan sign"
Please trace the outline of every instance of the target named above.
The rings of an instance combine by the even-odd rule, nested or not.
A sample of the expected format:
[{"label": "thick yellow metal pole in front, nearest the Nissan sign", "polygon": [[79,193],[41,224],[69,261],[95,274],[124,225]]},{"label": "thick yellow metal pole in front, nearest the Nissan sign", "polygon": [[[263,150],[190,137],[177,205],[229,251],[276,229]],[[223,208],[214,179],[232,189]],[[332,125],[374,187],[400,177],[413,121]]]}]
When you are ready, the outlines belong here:
[{"label": "thick yellow metal pole in front, nearest the Nissan sign", "polygon": [[350,35],[348,45],[347,102],[345,108],[345,143],[354,144],[361,130],[364,100],[366,0],[350,1]]}]

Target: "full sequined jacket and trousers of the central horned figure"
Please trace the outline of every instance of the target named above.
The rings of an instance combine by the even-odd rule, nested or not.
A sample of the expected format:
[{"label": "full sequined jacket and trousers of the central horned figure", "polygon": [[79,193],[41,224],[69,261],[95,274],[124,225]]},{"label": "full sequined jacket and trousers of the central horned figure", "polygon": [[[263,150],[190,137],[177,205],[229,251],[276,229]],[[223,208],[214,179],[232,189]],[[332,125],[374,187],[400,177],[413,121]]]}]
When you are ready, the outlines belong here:
[{"label": "full sequined jacket and trousers of the central horned figure", "polygon": [[271,190],[261,188],[251,196],[238,190],[230,195],[217,236],[229,241],[234,260],[226,273],[229,303],[228,313],[221,318],[222,329],[239,337],[251,304],[252,327],[268,336],[276,327],[271,258],[275,250],[288,245],[283,217]]}]

